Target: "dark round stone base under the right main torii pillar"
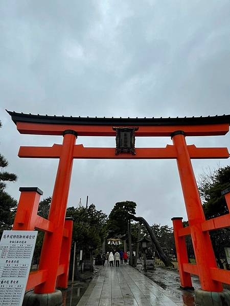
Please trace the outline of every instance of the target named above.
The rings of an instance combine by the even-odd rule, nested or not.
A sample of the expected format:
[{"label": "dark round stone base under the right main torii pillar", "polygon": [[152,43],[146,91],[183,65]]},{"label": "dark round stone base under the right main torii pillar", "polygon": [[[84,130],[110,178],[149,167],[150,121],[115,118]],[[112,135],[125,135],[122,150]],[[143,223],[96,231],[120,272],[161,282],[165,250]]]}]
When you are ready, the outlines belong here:
[{"label": "dark round stone base under the right main torii pillar", "polygon": [[230,306],[230,291],[222,292],[195,290],[196,306]]}]

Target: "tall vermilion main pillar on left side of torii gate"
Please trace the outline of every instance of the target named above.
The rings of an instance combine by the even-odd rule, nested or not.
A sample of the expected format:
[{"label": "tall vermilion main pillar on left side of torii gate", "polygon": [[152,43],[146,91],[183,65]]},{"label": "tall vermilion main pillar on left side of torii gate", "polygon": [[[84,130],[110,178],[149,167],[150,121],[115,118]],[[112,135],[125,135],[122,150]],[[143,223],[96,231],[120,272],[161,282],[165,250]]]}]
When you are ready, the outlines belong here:
[{"label": "tall vermilion main pillar on left side of torii gate", "polygon": [[62,150],[48,218],[54,225],[54,232],[45,233],[39,263],[39,270],[48,270],[48,278],[45,283],[35,287],[35,293],[55,291],[76,136],[76,132],[71,130],[63,133]]}]

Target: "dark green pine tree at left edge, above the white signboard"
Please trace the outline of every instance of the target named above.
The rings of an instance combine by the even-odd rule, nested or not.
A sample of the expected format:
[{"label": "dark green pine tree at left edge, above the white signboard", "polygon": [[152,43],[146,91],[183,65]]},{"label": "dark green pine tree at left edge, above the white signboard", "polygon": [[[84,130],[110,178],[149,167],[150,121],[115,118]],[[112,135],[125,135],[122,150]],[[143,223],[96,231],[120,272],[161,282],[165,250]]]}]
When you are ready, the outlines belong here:
[{"label": "dark green pine tree at left edge, above the white signboard", "polygon": [[[2,127],[1,121],[0,127]],[[17,180],[16,174],[5,171],[8,165],[7,159],[0,154],[0,236],[4,230],[10,230],[17,207],[17,201],[5,191],[6,182]]]}]

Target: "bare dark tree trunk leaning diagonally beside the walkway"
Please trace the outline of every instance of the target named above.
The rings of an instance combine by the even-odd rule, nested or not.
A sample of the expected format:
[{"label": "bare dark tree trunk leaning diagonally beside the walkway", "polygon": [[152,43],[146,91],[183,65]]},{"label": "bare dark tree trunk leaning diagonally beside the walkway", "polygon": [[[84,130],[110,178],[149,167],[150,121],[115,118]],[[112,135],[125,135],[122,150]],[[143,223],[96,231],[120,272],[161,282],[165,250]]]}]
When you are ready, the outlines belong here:
[{"label": "bare dark tree trunk leaning diagonally beside the walkway", "polygon": [[156,247],[157,253],[159,255],[159,258],[163,261],[163,263],[166,265],[166,267],[173,266],[170,259],[168,258],[168,256],[166,256],[164,250],[160,246],[159,241],[157,240],[157,238],[156,238],[152,228],[150,227],[149,223],[143,217],[136,217],[136,216],[131,215],[131,214],[128,214],[128,215],[129,215],[130,219],[133,219],[134,221],[137,221],[137,222],[141,222],[145,226],[146,230],[149,233],[149,236],[150,236],[152,242],[155,244],[155,247]]}]

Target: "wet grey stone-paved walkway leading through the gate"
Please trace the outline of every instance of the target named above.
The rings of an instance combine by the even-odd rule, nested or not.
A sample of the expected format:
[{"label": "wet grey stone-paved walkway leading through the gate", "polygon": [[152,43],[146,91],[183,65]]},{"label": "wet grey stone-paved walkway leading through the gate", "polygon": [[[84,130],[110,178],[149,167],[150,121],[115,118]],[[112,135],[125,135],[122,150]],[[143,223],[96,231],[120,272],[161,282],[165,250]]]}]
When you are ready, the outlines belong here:
[{"label": "wet grey stone-paved walkway leading through the gate", "polygon": [[177,306],[177,298],[129,265],[105,264],[95,276],[77,306]]}]

